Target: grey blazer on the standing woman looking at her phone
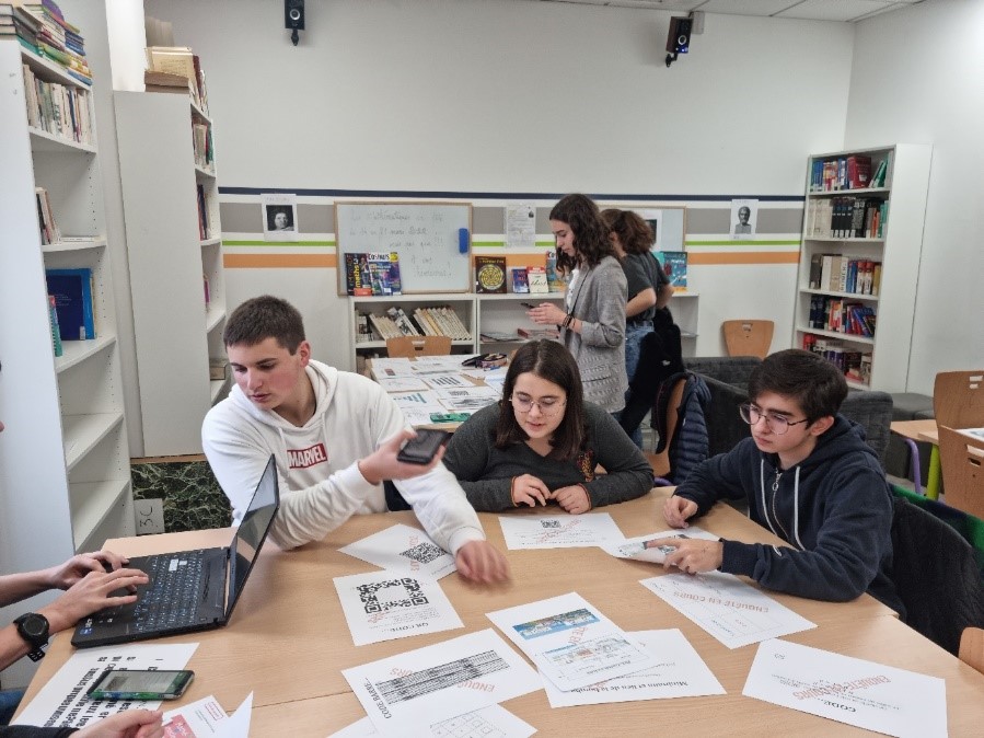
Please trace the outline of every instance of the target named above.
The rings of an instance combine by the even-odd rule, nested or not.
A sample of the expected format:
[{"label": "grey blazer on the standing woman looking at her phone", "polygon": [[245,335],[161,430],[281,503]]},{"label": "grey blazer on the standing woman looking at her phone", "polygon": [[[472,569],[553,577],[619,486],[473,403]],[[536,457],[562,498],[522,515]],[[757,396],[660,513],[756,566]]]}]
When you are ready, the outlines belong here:
[{"label": "grey blazer on the standing woman looking at her phone", "polygon": [[584,400],[610,413],[625,407],[625,272],[614,256],[583,269],[568,296],[567,310],[581,321],[581,331],[564,330],[560,337],[581,371]]}]

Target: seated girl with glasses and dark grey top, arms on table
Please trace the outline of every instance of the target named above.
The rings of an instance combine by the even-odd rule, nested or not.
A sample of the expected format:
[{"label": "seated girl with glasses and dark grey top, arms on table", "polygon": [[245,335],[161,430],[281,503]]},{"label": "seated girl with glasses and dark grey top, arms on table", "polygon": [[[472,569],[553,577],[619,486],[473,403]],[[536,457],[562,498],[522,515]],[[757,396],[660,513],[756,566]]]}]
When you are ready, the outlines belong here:
[{"label": "seated girl with glasses and dark grey top, arms on table", "polygon": [[[604,473],[597,473],[601,465]],[[451,437],[444,465],[476,510],[556,503],[578,515],[645,495],[652,469],[618,423],[583,399],[578,365],[552,341],[524,344],[502,399]]]}]

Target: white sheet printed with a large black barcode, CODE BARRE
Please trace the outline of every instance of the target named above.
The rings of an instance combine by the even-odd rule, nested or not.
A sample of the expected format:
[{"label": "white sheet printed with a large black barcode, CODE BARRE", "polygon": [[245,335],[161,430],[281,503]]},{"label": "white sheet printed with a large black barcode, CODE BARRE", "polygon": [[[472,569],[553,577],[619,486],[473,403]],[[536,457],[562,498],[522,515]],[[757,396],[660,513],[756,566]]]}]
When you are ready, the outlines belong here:
[{"label": "white sheet printed with a large black barcode, CODE BARRE", "polygon": [[540,676],[491,629],[341,674],[384,736],[430,736],[436,722],[543,688]]}]

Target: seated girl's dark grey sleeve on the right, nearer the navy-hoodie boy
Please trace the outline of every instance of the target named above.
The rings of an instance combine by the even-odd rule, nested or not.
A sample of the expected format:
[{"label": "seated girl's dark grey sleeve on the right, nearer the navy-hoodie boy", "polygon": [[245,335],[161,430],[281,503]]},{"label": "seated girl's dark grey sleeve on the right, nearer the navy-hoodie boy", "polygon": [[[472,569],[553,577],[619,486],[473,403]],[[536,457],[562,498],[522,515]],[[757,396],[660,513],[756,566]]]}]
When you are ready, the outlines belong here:
[{"label": "seated girl's dark grey sleeve on the right, nearer the navy-hoodie boy", "polygon": [[615,419],[600,407],[589,411],[594,461],[605,473],[584,486],[591,507],[641,497],[652,488],[652,466]]}]

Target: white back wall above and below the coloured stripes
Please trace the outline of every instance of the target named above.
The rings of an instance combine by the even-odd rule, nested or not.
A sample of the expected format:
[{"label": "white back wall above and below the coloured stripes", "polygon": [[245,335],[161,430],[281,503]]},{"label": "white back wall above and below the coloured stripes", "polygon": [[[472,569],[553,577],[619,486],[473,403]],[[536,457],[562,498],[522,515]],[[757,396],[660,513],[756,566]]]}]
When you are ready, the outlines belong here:
[{"label": "white back wall above and below the coloured stripes", "polygon": [[[807,154],[843,141],[848,24],[708,15],[667,69],[662,11],[309,2],[296,48],[276,0],[144,4],[201,57],[225,187],[802,195]],[[795,266],[703,269],[698,353],[718,353],[722,316],[774,316],[789,345]],[[335,285],[297,276],[230,269],[228,302]],[[304,316],[315,356],[344,366]]]}]

